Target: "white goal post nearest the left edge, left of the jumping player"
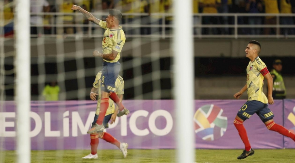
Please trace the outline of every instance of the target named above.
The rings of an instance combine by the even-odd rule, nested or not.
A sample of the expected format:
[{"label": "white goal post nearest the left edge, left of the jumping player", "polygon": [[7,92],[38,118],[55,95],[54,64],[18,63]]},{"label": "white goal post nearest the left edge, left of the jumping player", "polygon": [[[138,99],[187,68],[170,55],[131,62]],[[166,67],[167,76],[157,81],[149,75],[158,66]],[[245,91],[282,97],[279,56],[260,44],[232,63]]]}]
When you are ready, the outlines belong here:
[{"label": "white goal post nearest the left edge, left of the jumping player", "polygon": [[16,91],[17,162],[31,162],[30,139],[30,1],[16,0]]}]

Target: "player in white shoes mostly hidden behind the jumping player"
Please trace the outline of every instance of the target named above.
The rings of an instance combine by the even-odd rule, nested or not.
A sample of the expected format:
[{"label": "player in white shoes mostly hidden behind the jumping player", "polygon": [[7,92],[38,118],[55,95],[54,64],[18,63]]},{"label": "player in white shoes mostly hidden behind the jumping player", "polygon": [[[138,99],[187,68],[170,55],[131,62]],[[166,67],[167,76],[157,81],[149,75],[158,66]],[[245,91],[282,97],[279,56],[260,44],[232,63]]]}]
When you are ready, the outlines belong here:
[{"label": "player in white shoes mostly hidden behind the jumping player", "polygon": [[[94,121],[92,123],[92,126],[96,123],[96,120],[99,116],[100,113],[100,103],[101,98],[100,98],[100,77],[101,77],[101,71],[99,71],[95,77],[95,81],[92,84],[93,87],[91,89],[90,92],[90,99],[95,101],[96,97],[98,96],[97,99],[97,107],[96,107],[96,112],[95,112],[95,116],[94,116]],[[115,88],[116,88],[116,92],[114,93],[118,93],[118,97],[120,98],[120,100],[123,100],[123,94],[124,94],[124,80],[123,78],[118,75],[116,82],[115,82]],[[115,107],[115,104],[112,100],[110,100],[108,109],[106,111],[106,116],[103,120],[103,125],[105,126],[105,128],[109,128],[109,124],[108,122],[110,122],[110,124],[113,124],[116,120],[117,117],[117,113],[118,113],[118,107]],[[83,157],[83,159],[97,159],[97,146],[99,144],[99,138],[100,139],[104,139],[105,141],[117,146],[121,152],[124,155],[124,158],[127,156],[127,148],[128,148],[128,144],[127,143],[120,143],[117,139],[115,139],[111,134],[107,133],[107,132],[98,132],[98,133],[92,133],[90,134],[90,146],[91,146],[91,153],[85,157]]]}]

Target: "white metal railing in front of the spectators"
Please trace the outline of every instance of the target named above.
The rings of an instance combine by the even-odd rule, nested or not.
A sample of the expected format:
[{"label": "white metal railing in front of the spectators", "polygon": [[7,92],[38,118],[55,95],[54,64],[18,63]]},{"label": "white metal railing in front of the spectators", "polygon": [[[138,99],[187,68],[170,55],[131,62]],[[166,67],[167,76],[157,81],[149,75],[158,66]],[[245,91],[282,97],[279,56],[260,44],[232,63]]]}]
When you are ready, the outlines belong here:
[{"label": "white metal railing in front of the spectators", "polygon": [[[92,13],[96,18],[103,18],[108,15],[108,13]],[[96,24],[93,24],[89,21],[88,24],[82,24],[82,21],[85,19],[83,15],[79,12],[76,13],[31,13],[31,16],[44,16],[50,15],[50,22],[51,24],[40,24],[40,25],[32,25],[36,27],[51,27],[51,34],[42,34],[45,37],[57,37],[63,33],[56,32],[58,28],[73,28],[76,29],[76,33],[74,34],[66,34],[66,37],[102,37],[103,32],[95,33],[94,30],[99,30],[100,27]],[[64,24],[63,23],[63,16],[73,16],[73,24]],[[128,16],[133,16],[133,19],[128,22]],[[139,37],[156,37],[156,38],[171,38],[173,37],[171,29],[173,29],[173,24],[166,24],[165,20],[169,16],[173,16],[172,13],[151,13],[148,15],[147,13],[123,13],[123,18],[125,24],[121,24],[124,28],[127,38],[139,38]],[[193,14],[194,17],[199,19],[199,24],[194,24],[193,27],[196,29],[230,29],[232,32],[231,34],[202,34],[201,32],[194,34],[195,38],[295,38],[295,34],[282,34],[281,29],[291,29],[295,30],[295,25],[285,25],[280,24],[280,19],[285,17],[295,17],[295,14],[266,14],[266,13],[198,13]],[[250,25],[250,24],[240,24],[239,19],[243,20],[244,18],[251,18],[251,17],[260,17],[262,20],[266,16],[276,18],[276,24],[257,24],[257,25]],[[153,17],[158,17],[155,19]],[[204,18],[208,17],[218,17],[219,19],[222,18],[229,18],[232,20],[231,24],[202,24]],[[142,20],[146,20],[147,24],[142,24]],[[156,21],[157,20],[157,21]],[[193,21],[193,19],[192,19]],[[156,23],[155,23],[156,22]],[[159,23],[160,22],[160,23]],[[210,22],[211,23],[211,22]],[[87,27],[87,30],[83,29]],[[145,29],[153,29],[156,30],[150,34],[142,34],[140,32],[140,28]],[[239,30],[251,28],[259,28],[261,32],[267,28],[275,29],[275,34],[241,34]],[[81,30],[82,29],[82,30]],[[168,30],[167,30],[168,29]],[[102,30],[103,31],[103,30]],[[128,32],[132,31],[132,32]],[[138,32],[139,31],[139,32]],[[201,31],[201,30],[200,30]],[[40,34],[32,35],[33,37],[38,37]]]}]

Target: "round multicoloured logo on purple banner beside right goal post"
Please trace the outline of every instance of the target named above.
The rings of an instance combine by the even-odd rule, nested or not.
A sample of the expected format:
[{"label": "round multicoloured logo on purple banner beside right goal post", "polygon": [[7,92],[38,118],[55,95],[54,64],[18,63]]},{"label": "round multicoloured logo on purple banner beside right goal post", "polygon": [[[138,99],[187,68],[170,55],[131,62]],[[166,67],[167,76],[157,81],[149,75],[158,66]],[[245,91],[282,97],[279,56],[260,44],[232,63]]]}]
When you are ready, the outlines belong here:
[{"label": "round multicoloured logo on purple banner beside right goal post", "polygon": [[213,141],[221,138],[227,126],[228,118],[223,109],[216,105],[204,105],[195,113],[195,132],[203,140]]}]

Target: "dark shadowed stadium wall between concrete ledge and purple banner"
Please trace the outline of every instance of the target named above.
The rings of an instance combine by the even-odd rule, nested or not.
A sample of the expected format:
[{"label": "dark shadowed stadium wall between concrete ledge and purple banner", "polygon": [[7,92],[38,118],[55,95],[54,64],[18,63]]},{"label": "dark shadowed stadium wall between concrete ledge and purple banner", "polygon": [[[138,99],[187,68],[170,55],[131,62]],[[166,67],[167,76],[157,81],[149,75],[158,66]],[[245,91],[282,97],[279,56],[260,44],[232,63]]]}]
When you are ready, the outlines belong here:
[{"label": "dark shadowed stadium wall between concrete ledge and purple banner", "polygon": [[[263,57],[266,66],[271,70],[272,62],[276,57]],[[79,67],[77,63],[83,61],[83,66]],[[133,66],[140,61],[140,65]],[[83,72],[85,80],[85,94],[84,99],[89,99],[89,92],[95,75],[101,70],[102,60],[100,58],[85,57],[75,58],[67,57],[63,61],[58,61],[56,57],[45,57],[43,64],[38,63],[37,57],[31,58],[31,98],[32,100],[40,100],[39,95],[42,95],[43,87],[38,87],[38,84],[46,84],[57,78],[57,74],[64,74],[65,80],[60,81],[59,85],[65,84],[61,87],[61,92],[65,92],[66,96],[60,100],[78,100],[78,71]],[[135,91],[142,90],[142,97],[140,99],[173,99],[173,58],[162,57],[154,59],[152,57],[122,57],[120,75],[125,80],[125,94],[124,99],[136,99]],[[246,67],[249,60],[243,58],[231,57],[195,57],[195,99],[233,99],[233,94],[241,89],[245,84]],[[295,57],[282,58],[285,86],[287,88],[287,98],[295,98],[295,71],[293,63]],[[13,57],[5,58],[5,70],[12,71],[14,60]],[[159,78],[153,78],[153,63],[158,63],[160,69]],[[64,66],[64,71],[58,71],[57,66],[61,64]],[[44,73],[40,74],[39,69],[44,67]],[[135,70],[140,70],[141,74],[135,74]],[[5,77],[5,100],[13,100],[14,97],[14,81],[15,74],[8,74]],[[38,79],[43,77],[41,83]],[[142,79],[142,84],[135,86],[134,80]],[[161,89],[160,97],[154,97],[153,92],[156,91],[154,84],[159,83]],[[8,87],[10,86],[10,87]],[[40,89],[41,88],[41,89]],[[266,93],[266,84],[264,85],[264,92]],[[81,95],[81,93],[80,93]],[[246,95],[246,94],[245,94]],[[243,96],[243,99],[246,99]],[[82,99],[80,99],[82,100]]]}]

